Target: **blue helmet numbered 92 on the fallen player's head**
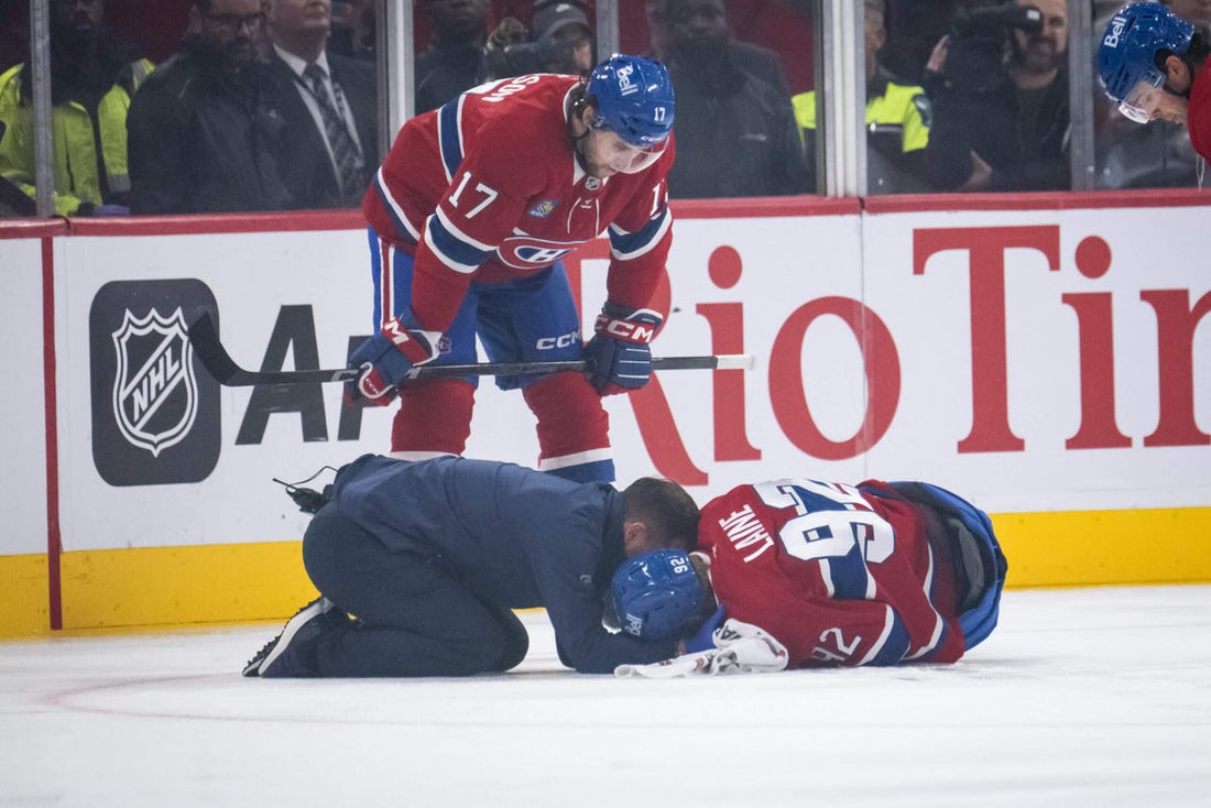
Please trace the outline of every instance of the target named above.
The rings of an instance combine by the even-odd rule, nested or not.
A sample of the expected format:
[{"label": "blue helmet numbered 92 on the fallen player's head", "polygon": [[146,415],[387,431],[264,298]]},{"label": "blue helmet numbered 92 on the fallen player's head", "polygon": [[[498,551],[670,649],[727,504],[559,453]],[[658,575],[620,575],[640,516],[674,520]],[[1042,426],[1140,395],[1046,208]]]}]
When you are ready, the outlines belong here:
[{"label": "blue helmet numbered 92 on the fallen player's head", "polygon": [[673,640],[701,620],[707,597],[684,550],[627,558],[610,580],[619,628],[641,640]]}]

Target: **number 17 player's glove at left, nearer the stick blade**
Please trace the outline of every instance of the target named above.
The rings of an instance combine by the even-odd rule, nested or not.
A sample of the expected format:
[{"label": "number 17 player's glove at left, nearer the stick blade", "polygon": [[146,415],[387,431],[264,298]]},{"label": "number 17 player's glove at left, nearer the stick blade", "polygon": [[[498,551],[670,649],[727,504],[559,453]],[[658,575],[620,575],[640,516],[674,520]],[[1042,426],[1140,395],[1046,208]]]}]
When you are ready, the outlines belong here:
[{"label": "number 17 player's glove at left, nearer the stick blade", "polygon": [[358,345],[349,357],[357,377],[345,382],[345,401],[351,405],[385,406],[395,399],[395,386],[418,365],[437,359],[441,332],[409,328],[392,317]]}]

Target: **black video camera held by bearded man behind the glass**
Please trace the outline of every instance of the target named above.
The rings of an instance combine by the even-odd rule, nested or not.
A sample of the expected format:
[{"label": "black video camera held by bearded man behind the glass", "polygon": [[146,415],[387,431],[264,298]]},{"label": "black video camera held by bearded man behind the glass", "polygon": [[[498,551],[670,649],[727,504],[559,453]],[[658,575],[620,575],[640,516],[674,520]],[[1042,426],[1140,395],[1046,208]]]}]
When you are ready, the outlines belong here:
[{"label": "black video camera held by bearded man behind the glass", "polygon": [[1014,29],[1037,34],[1043,12],[1012,0],[960,8],[951,18],[951,47],[942,70],[960,92],[987,92],[1004,79],[1003,55]]}]

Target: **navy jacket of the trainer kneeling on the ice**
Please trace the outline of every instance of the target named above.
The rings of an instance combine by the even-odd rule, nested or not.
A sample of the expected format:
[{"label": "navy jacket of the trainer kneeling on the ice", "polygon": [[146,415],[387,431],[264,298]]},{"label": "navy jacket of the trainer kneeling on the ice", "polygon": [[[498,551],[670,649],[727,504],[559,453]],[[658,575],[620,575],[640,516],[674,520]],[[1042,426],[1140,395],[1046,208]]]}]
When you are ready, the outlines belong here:
[{"label": "navy jacket of the trainer kneeling on the ice", "polygon": [[580,672],[675,654],[671,642],[602,626],[603,595],[624,560],[622,494],[608,483],[487,460],[365,455],[337,475],[327,509],[389,551],[435,558],[484,602],[545,607],[559,660]]}]

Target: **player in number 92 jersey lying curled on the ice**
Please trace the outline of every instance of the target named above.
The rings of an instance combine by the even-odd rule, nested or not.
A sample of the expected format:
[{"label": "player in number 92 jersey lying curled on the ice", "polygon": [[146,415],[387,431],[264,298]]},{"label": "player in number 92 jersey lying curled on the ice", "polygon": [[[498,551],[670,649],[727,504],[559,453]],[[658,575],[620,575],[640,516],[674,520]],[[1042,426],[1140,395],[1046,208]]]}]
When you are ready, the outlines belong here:
[{"label": "player in number 92 jersey lying curled on the ice", "polygon": [[696,551],[619,567],[614,621],[682,640],[615,674],[953,663],[995,628],[1005,571],[988,516],[929,483],[740,486],[702,508]]}]

